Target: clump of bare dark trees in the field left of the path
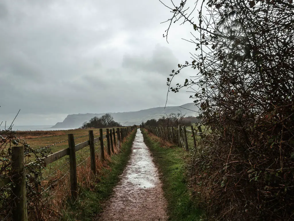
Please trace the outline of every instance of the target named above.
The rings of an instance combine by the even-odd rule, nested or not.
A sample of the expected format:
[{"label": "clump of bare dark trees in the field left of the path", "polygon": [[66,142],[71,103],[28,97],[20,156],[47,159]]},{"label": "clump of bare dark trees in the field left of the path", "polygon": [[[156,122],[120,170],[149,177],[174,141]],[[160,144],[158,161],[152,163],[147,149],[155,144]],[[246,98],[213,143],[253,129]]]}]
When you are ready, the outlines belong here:
[{"label": "clump of bare dark trees in the field left of the path", "polygon": [[103,128],[103,127],[120,127],[121,124],[113,120],[110,113],[106,113],[101,117],[92,117],[88,122],[84,122],[82,129],[86,128]]}]

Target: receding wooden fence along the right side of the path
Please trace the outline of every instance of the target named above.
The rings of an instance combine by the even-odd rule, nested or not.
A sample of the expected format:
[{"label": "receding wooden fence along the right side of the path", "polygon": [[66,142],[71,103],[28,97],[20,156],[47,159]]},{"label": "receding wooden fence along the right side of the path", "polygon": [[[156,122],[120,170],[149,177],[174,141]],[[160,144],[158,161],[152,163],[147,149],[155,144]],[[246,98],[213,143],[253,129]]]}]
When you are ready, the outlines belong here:
[{"label": "receding wooden fence along the right side of the path", "polygon": [[145,126],[145,128],[153,133],[155,136],[158,136],[166,141],[172,142],[179,147],[183,147],[187,151],[189,150],[187,133],[191,133],[193,137],[193,146],[196,147],[196,135],[201,135],[203,133],[201,126],[198,126],[197,129],[191,126],[191,130],[188,130],[186,126],[178,125],[178,128],[174,127],[154,127],[154,126]]}]

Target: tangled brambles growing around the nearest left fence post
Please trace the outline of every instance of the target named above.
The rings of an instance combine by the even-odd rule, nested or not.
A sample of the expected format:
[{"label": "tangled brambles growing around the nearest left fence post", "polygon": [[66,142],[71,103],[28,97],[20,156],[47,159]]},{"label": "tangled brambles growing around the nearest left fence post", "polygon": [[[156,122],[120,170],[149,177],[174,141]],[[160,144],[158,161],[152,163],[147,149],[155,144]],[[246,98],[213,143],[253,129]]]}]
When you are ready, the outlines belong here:
[{"label": "tangled brambles growing around the nearest left fence post", "polygon": [[[34,220],[40,220],[40,204],[41,204],[41,176],[42,168],[44,168],[41,157],[46,156],[49,151],[48,149],[34,150],[24,140],[17,136],[16,133],[11,131],[12,126],[6,130],[0,131],[0,179],[13,179],[11,169],[11,147],[13,146],[24,146],[24,163],[26,170],[26,200],[31,202],[27,204],[27,213],[29,217]],[[34,164],[28,164],[31,162],[31,158],[36,159]],[[2,182],[2,180],[0,180]],[[1,184],[0,182],[0,184]],[[1,185],[0,188],[0,219],[9,220],[11,217],[11,211],[14,207],[13,196],[11,195],[11,188],[13,183],[7,185]],[[4,220],[5,220],[4,219]]]}]

